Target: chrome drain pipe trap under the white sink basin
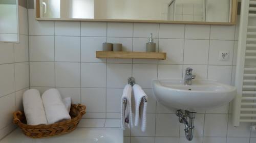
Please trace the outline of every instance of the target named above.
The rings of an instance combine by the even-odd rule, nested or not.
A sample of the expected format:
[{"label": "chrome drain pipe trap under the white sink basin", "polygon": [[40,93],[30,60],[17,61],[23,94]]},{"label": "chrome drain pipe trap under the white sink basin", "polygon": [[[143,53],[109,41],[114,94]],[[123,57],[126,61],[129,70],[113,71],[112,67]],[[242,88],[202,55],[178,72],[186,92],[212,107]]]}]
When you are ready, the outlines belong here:
[{"label": "chrome drain pipe trap under the white sink basin", "polygon": [[[196,112],[191,112],[188,110],[177,110],[176,115],[179,117],[180,123],[185,125],[184,131],[187,140],[191,141],[194,137],[194,122],[196,118]],[[189,118],[189,121],[187,121],[187,118]]]}]

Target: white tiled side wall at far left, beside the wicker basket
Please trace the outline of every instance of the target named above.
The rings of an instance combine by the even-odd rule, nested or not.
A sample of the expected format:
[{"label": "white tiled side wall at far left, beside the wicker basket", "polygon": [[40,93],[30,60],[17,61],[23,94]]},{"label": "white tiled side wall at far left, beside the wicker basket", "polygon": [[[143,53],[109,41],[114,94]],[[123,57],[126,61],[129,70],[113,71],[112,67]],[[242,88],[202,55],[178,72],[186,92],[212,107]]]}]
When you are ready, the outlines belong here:
[{"label": "white tiled side wall at far left, beside the wicker basket", "polygon": [[29,88],[28,10],[19,6],[19,43],[0,42],[0,139],[11,132],[12,113]]}]

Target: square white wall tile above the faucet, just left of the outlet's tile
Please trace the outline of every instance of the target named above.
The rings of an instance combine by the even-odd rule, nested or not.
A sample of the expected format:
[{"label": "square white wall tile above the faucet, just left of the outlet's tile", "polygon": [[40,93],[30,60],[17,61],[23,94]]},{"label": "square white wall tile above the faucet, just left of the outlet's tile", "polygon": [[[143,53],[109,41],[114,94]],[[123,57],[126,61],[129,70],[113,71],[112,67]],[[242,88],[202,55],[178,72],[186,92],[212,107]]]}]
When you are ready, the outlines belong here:
[{"label": "square white wall tile above the faucet, just left of the outlet's tile", "polygon": [[209,40],[185,40],[184,45],[184,64],[208,64]]}]

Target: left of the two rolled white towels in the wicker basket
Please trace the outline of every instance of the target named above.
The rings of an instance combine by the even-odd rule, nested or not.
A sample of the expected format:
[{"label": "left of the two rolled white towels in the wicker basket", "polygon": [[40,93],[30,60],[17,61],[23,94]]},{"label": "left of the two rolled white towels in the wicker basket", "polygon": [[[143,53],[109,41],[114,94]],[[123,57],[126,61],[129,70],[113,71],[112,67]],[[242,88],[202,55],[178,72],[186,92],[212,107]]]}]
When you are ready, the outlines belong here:
[{"label": "left of the two rolled white towels in the wicker basket", "polygon": [[28,125],[46,125],[46,113],[38,90],[27,90],[23,94],[23,107]]}]

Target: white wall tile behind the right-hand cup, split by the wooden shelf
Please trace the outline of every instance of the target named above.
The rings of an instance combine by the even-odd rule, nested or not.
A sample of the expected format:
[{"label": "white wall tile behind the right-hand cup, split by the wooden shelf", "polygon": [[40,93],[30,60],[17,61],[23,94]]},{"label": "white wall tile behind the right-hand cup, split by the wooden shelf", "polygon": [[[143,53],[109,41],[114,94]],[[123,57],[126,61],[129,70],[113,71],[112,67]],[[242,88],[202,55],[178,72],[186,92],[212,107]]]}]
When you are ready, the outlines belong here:
[{"label": "white wall tile behind the right-hand cup, split by the wooden shelf", "polygon": [[[109,43],[121,43],[122,51],[133,51],[133,38],[108,37]],[[132,59],[108,59],[108,63],[132,63]]]}]

